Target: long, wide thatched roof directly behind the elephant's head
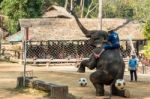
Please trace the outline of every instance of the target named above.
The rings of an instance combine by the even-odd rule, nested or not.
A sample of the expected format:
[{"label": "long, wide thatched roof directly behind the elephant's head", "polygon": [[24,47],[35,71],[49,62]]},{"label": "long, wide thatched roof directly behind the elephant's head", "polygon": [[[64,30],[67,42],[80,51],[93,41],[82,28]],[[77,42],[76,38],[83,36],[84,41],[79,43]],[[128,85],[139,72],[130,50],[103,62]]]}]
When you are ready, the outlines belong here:
[{"label": "long, wide thatched roof directly behind the elephant's head", "polygon": [[[90,30],[98,29],[98,19],[80,19],[81,23]],[[43,19],[22,19],[22,27],[29,28],[31,40],[85,40],[85,35],[79,29],[75,19],[64,18],[43,18]],[[140,24],[136,21],[126,19],[103,19],[103,29],[108,27],[119,27],[117,30],[121,40],[128,39],[129,35],[134,40],[143,40]]]}]

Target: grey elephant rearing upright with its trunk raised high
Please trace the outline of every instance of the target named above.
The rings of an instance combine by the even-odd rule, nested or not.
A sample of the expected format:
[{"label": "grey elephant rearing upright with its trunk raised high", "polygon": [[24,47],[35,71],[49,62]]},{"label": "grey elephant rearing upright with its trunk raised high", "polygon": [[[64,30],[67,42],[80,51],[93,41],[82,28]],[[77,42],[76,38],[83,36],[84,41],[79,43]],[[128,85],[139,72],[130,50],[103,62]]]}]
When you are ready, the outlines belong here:
[{"label": "grey elephant rearing upright with its trunk raised high", "polygon": [[125,63],[120,54],[120,49],[106,50],[100,57],[96,57],[95,55],[98,55],[105,43],[107,43],[103,42],[107,40],[107,32],[103,30],[87,30],[81,24],[76,14],[73,11],[71,13],[81,31],[89,38],[90,45],[94,46],[90,58],[80,63],[78,72],[84,73],[85,67],[91,70],[96,68],[96,71],[90,75],[90,81],[96,89],[97,96],[104,96],[104,85],[110,85],[112,95],[129,97],[130,93],[128,90],[118,90],[115,87],[115,81],[124,78]]}]

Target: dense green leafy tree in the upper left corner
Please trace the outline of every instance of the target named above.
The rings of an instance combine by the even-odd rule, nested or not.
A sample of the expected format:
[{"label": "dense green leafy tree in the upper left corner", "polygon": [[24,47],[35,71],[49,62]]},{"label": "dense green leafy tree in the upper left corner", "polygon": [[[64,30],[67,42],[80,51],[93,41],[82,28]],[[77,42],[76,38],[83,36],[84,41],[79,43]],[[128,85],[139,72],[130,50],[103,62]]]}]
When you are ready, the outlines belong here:
[{"label": "dense green leafy tree in the upper left corner", "polygon": [[44,0],[3,0],[2,13],[8,16],[5,26],[11,33],[19,29],[20,18],[35,18],[42,14]]}]

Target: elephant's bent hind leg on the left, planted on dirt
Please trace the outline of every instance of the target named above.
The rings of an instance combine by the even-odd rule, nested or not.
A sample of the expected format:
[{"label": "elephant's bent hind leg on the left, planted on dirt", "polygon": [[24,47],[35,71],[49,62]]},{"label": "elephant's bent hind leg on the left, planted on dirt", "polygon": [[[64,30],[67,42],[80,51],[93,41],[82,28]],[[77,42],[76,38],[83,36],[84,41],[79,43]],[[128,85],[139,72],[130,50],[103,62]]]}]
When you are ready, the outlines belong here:
[{"label": "elephant's bent hind leg on the left, planted on dirt", "polygon": [[104,84],[107,82],[108,73],[97,70],[90,75],[90,80],[96,89],[97,96],[104,96]]}]

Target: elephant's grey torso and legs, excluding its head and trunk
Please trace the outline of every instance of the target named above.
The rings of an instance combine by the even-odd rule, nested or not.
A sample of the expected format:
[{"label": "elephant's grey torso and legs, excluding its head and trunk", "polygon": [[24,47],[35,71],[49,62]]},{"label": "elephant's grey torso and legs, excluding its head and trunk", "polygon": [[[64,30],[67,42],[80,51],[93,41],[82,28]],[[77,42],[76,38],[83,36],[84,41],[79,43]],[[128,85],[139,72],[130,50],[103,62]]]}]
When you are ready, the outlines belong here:
[{"label": "elephant's grey torso and legs, excluding its head and trunk", "polygon": [[[101,48],[95,48],[93,52],[99,53]],[[123,79],[125,64],[122,56],[119,54],[119,49],[107,50],[100,58],[96,58],[92,53],[89,60],[83,60],[80,64],[78,72],[84,73],[85,67],[95,69],[91,73],[90,81],[96,89],[97,96],[104,95],[104,85],[112,86],[112,94],[118,96],[125,96],[124,91],[119,91],[115,88],[115,81]]]}]

